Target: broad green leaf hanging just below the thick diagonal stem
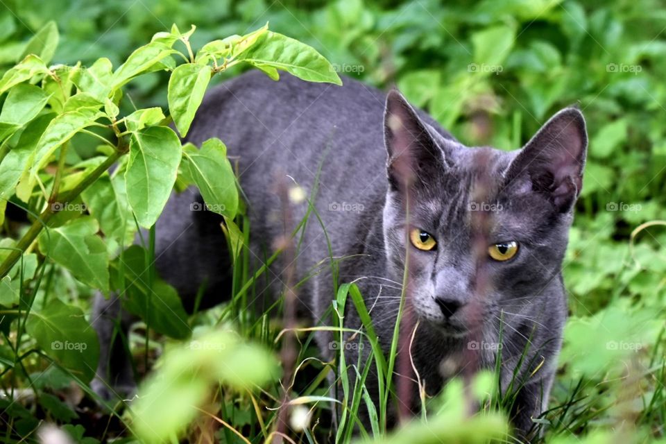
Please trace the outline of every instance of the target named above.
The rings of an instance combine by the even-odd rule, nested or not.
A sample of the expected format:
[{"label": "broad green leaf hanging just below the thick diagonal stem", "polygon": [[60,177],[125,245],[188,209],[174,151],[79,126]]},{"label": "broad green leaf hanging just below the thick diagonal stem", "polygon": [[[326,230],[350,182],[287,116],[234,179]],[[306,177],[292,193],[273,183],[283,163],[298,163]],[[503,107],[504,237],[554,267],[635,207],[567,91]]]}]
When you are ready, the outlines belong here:
[{"label": "broad green leaf hanging just below the thick diagonal stem", "polygon": [[99,225],[92,216],[42,232],[40,250],[67,268],[75,278],[94,289],[109,291],[109,258],[104,241],[96,233]]}]

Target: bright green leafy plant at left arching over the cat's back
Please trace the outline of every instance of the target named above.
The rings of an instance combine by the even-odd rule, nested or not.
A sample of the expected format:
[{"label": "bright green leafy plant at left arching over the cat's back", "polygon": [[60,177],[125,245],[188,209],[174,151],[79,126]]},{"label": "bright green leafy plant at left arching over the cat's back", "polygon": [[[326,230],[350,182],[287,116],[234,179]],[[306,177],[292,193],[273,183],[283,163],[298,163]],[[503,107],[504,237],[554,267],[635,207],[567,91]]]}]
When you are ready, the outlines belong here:
[{"label": "bright green leafy plant at left arching over the cat's back", "polygon": [[[56,25],[49,22],[26,44],[24,58],[0,78],[0,94],[6,94],[0,113],[0,216],[4,219],[9,204],[30,214],[32,222],[17,241],[2,241],[0,330],[7,340],[2,345],[7,357],[3,376],[12,373],[16,378],[17,372],[26,373],[25,361],[32,366],[46,359],[89,391],[87,383],[99,359],[98,339],[76,301],[49,288],[53,264],[89,289],[126,293],[123,305],[146,327],[175,338],[189,336],[176,291],[157,278],[140,279],[151,268],[148,259],[154,253],[130,244],[139,228],[154,234],[153,225],[177,178],[198,187],[208,207],[230,220],[237,215],[239,198],[223,142],[210,139],[200,148],[182,146],[169,123],[184,137],[210,78],[234,65],[255,66],[275,80],[278,71],[287,71],[305,80],[341,83],[314,49],[268,31],[267,25],[248,35],[213,40],[196,54],[189,42],[194,31],[192,26],[181,33],[174,25],[170,32],[156,33],[116,69],[107,58],[89,67],[49,66],[58,42]],[[123,101],[129,99],[126,85],[155,71],[170,73],[169,117],[159,107],[122,114]],[[95,155],[85,160],[71,155],[71,144],[80,139],[96,145]],[[45,273],[49,277],[44,284]],[[157,297],[151,297],[153,293]],[[213,334],[205,341],[240,354],[232,362],[253,368],[250,349],[232,352],[230,336]],[[24,353],[26,344],[32,344],[31,350]],[[35,352],[41,356],[37,361]],[[263,350],[254,353],[270,360]],[[194,357],[205,359],[190,353],[187,359],[171,359],[164,371],[180,374],[182,366],[194,365]],[[239,386],[258,384],[270,375],[264,373],[265,365],[259,368],[255,377],[247,368],[221,368],[219,375],[207,377]],[[197,384],[201,388],[206,381],[198,379]],[[142,399],[149,400],[149,393],[150,388]],[[55,402],[48,394],[41,399],[50,399],[51,406]],[[164,407],[172,411],[168,404]],[[137,412],[137,433],[146,436],[154,409],[139,405]],[[15,419],[10,415],[10,425]]]}]

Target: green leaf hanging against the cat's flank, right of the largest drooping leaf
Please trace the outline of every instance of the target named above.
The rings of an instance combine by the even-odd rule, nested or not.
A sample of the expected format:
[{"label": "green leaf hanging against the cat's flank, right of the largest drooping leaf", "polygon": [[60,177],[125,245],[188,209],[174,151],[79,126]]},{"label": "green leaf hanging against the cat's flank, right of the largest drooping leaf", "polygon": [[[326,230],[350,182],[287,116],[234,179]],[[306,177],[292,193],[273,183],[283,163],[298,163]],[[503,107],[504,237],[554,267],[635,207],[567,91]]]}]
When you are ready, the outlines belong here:
[{"label": "green leaf hanging against the cat's flank, right of the largest drooping leaf", "polygon": [[183,171],[198,187],[207,210],[233,219],[238,209],[238,191],[222,141],[208,139],[200,150],[187,144],[183,153]]}]

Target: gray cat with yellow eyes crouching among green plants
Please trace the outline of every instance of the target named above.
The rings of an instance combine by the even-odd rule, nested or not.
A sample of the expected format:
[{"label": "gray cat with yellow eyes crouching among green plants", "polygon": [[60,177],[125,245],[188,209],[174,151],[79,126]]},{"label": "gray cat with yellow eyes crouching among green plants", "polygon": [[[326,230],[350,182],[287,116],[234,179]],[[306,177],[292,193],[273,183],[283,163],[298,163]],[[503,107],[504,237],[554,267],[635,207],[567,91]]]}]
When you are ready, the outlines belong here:
[{"label": "gray cat with yellow eyes crouching among green plants", "polygon": [[[427,393],[464,372],[470,359],[475,367],[493,368],[501,352],[502,387],[515,379],[514,389],[520,388],[508,413],[528,436],[531,418],[546,409],[567,315],[561,264],[586,158],[581,112],[558,112],[518,151],[467,148],[398,92],[386,96],[343,81],[336,87],[244,74],[207,95],[189,142],[219,137],[237,157],[255,266],[284,232],[275,185],[289,177],[307,195],[318,185],[312,205],[321,223],[310,216],[296,260],[300,278],[318,269],[298,289],[299,309],[311,323],[331,325],[325,316],[335,298],[330,241],[332,256],[345,258],[339,282],[357,283],[388,353],[409,251],[406,311],[418,321],[411,355]],[[192,191],[172,196],[157,222],[157,271],[184,300],[192,300],[205,281],[205,299],[217,303],[229,292],[228,255],[219,219],[191,211],[193,199],[200,197]],[[293,220],[300,221],[307,207],[294,204]],[[280,291],[284,265],[266,275],[278,284],[273,293]],[[361,327],[351,307],[348,302],[345,326]],[[126,359],[107,366],[118,352],[110,346],[117,301],[98,298],[95,309],[103,344],[98,375],[129,385]],[[128,318],[120,318],[126,328]],[[324,357],[332,358],[332,338],[321,334],[317,340]],[[349,347],[348,362],[357,362],[359,349],[365,355],[369,350]],[[375,379],[370,373],[371,395]],[[416,387],[410,390],[407,407],[415,411]]]}]

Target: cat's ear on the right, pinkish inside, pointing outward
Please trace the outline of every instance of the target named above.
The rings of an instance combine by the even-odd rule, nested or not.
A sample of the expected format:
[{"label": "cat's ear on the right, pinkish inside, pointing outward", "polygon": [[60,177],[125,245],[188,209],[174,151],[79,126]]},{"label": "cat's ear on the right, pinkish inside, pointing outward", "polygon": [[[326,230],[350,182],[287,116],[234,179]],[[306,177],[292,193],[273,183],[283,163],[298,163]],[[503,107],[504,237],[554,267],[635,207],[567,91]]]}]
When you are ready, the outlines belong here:
[{"label": "cat's ear on the right, pinkish inside, pointing outward", "polygon": [[506,185],[528,178],[559,212],[572,209],[583,187],[588,148],[585,118],[576,108],[555,114],[534,135],[506,170]]}]

